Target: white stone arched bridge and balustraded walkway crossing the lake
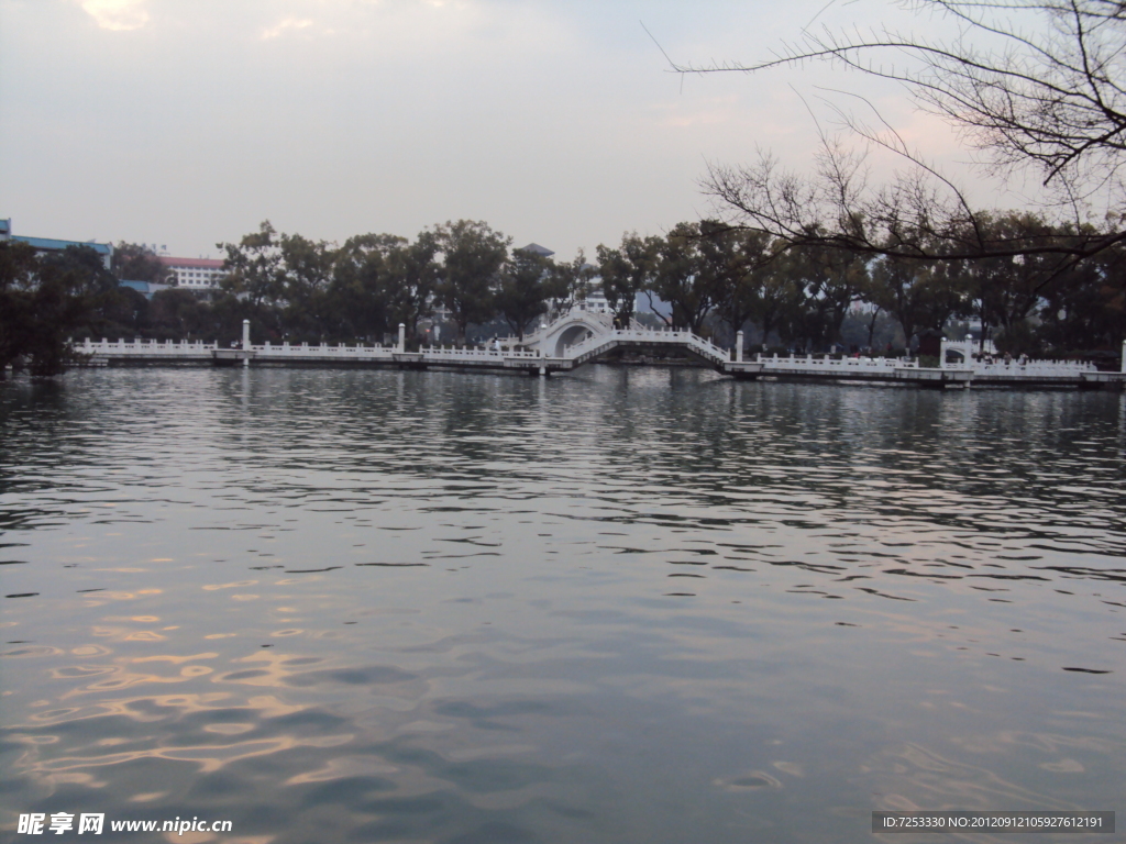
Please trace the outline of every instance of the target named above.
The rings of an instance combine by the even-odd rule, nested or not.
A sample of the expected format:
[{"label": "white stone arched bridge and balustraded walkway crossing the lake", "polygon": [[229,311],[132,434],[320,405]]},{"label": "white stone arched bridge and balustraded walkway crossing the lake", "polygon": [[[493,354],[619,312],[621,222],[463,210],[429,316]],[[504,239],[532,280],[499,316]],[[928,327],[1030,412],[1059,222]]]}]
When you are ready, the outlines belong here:
[{"label": "white stone arched bridge and balustraded walkway crossing the lake", "polygon": [[[1119,372],[1098,371],[1073,361],[1021,361],[983,365],[975,361],[947,363],[944,342],[941,366],[922,367],[911,358],[833,358],[804,354],[779,358],[756,354],[744,359],[743,332],[734,349],[723,349],[690,331],[649,329],[636,321],[616,327],[609,315],[572,311],[526,336],[509,338],[493,348],[422,347],[408,351],[405,326],[399,326],[395,345],[329,345],[288,342],[260,345],[250,341],[250,323],[243,321],[242,343],[222,349],[217,343],[117,340],[100,343],[87,339],[75,347],[90,366],[151,363],[215,363],[250,366],[382,366],[402,369],[456,369],[515,371],[547,376],[569,372],[617,349],[676,349],[722,375],[741,380],[884,381],[920,387],[965,388],[973,383],[1001,386],[1056,386],[1082,389],[1121,389],[1126,383],[1126,342]],[[959,351],[960,350],[955,350]]]}]

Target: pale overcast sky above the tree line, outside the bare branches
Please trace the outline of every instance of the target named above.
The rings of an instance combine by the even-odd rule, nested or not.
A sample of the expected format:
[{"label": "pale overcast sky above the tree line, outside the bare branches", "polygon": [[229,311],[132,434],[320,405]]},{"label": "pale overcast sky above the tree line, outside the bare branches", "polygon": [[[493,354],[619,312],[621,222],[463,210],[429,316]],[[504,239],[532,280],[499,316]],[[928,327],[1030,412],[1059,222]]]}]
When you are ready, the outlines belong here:
[{"label": "pale overcast sky above the tree line, outside the bare branches", "polygon": [[941,25],[878,0],[0,0],[0,217],[180,257],[265,219],[341,243],[468,218],[570,260],[713,215],[709,162],[807,170],[826,88],[957,174],[967,153],[899,88],[664,56],[888,21]]}]

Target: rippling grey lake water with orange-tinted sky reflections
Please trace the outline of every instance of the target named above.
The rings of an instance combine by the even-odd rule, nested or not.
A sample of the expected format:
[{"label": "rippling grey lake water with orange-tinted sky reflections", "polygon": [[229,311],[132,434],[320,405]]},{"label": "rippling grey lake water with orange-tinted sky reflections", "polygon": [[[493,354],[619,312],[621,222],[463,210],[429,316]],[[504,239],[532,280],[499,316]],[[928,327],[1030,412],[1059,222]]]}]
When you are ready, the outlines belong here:
[{"label": "rippling grey lake water with orange-tinted sky reflections", "polygon": [[1126,809],[1124,458],[1116,394],[10,384],[0,829],[864,842],[874,809]]}]

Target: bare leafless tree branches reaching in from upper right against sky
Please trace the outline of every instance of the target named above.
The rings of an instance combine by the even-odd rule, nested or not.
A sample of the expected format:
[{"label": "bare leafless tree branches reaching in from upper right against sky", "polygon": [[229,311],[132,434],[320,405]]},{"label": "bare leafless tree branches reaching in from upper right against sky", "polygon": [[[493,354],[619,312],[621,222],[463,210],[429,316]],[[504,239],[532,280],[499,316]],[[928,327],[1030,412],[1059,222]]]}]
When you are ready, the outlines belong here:
[{"label": "bare leafless tree branches reaching in from upper right against sky", "polygon": [[[763,150],[748,165],[709,167],[703,187],[727,222],[794,244],[922,260],[1054,255],[1058,271],[1126,240],[1126,2],[915,0],[908,8],[953,18],[958,37],[822,28],[757,64],[672,65],[686,74],[762,73],[824,60],[899,82],[958,129],[989,174],[1035,176],[1052,231],[1031,241],[999,236],[954,180],[866,100],[841,92],[851,105],[838,97],[837,116],[860,143],[819,125],[811,172],[787,170]],[[874,149],[905,163],[888,182],[873,182]]]}]

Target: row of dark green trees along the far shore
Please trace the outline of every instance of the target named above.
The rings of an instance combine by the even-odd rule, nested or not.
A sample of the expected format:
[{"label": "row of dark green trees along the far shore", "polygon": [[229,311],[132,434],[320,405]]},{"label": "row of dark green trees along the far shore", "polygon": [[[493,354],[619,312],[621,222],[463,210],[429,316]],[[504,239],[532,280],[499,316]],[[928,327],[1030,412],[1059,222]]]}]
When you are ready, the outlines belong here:
[{"label": "row of dark green trees along the far shore", "polygon": [[[796,243],[716,221],[664,235],[626,233],[554,260],[513,249],[479,221],[435,225],[413,240],[360,234],[342,244],[285,234],[265,222],[221,243],[226,276],[214,290],[178,287],[146,298],[122,280],[167,281],[148,248],[119,243],[107,269],[81,246],[37,253],[0,242],[0,371],[63,371],[69,340],[134,338],[383,342],[406,325],[409,342],[522,339],[548,313],[600,291],[615,318],[687,329],[724,345],[744,331],[763,347],[888,350],[926,333],[980,325],[1013,356],[1117,356],[1126,338],[1123,246],[1063,267],[1040,250],[1081,236],[1027,212],[980,215],[1007,253],[965,260],[873,255],[828,242]],[[1027,242],[1026,253],[1012,244]],[[935,245],[940,249],[940,244]],[[1061,268],[1062,267],[1062,268]],[[638,303],[644,307],[636,313]],[[437,331],[436,331],[437,329]]]}]

